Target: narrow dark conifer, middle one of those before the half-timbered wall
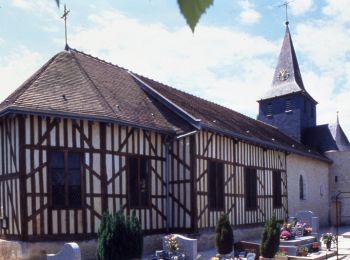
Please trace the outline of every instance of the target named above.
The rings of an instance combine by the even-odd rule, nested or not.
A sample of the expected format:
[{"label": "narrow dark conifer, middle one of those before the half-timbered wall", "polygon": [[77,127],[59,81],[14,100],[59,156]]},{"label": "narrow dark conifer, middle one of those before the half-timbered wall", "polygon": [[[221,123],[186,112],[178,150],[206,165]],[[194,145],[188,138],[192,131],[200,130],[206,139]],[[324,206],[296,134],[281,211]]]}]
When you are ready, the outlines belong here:
[{"label": "narrow dark conifer, middle one of those before the half-timbered wall", "polygon": [[226,214],[222,214],[215,227],[215,244],[219,254],[229,254],[233,249],[233,230]]}]

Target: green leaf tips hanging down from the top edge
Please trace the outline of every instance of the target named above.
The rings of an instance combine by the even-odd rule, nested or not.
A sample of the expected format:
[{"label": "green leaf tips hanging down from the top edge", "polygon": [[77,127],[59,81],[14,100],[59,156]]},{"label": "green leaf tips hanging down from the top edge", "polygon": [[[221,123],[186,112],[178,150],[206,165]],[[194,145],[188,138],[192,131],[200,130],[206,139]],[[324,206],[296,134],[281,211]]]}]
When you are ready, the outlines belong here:
[{"label": "green leaf tips hanging down from the top edge", "polygon": [[[55,0],[55,2],[59,7],[60,0]],[[177,3],[188,26],[194,32],[199,18],[214,3],[214,0],[177,0]]]}]

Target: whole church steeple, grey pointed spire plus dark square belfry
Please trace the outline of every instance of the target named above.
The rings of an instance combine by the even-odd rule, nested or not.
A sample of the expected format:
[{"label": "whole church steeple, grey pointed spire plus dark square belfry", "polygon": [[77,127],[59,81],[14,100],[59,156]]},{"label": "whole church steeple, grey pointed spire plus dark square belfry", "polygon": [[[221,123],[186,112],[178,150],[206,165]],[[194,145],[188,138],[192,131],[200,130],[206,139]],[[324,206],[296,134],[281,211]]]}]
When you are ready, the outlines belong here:
[{"label": "whole church steeple, grey pointed spire plus dark square belfry", "polygon": [[304,129],[316,126],[317,102],[304,87],[289,22],[285,24],[284,39],[271,88],[258,101],[258,120],[271,124],[301,141]]}]

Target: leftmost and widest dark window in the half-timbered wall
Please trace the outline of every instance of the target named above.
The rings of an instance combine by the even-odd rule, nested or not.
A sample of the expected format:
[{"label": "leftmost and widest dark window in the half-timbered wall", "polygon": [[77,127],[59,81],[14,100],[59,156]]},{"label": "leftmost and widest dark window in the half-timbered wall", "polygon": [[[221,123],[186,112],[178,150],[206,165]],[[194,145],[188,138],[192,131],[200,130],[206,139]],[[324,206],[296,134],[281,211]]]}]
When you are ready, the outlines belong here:
[{"label": "leftmost and widest dark window in the half-timbered wall", "polygon": [[51,203],[53,208],[81,207],[81,155],[60,151],[49,153]]}]

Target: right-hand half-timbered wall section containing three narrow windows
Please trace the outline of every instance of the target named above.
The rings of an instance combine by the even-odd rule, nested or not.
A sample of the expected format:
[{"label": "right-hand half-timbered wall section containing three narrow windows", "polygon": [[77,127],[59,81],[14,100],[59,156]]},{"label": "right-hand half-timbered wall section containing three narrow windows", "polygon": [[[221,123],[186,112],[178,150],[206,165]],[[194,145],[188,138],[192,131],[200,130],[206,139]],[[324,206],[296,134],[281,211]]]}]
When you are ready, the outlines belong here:
[{"label": "right-hand half-timbered wall section containing three narrow windows", "polygon": [[[196,200],[198,229],[214,228],[219,216],[226,213],[232,225],[259,225],[276,215],[284,220],[288,214],[286,154],[266,149],[212,131],[196,135]],[[224,210],[208,207],[208,162],[224,165]],[[256,169],[257,207],[247,209],[245,201],[244,169]],[[272,174],[281,172],[281,207],[273,207]]]}]

